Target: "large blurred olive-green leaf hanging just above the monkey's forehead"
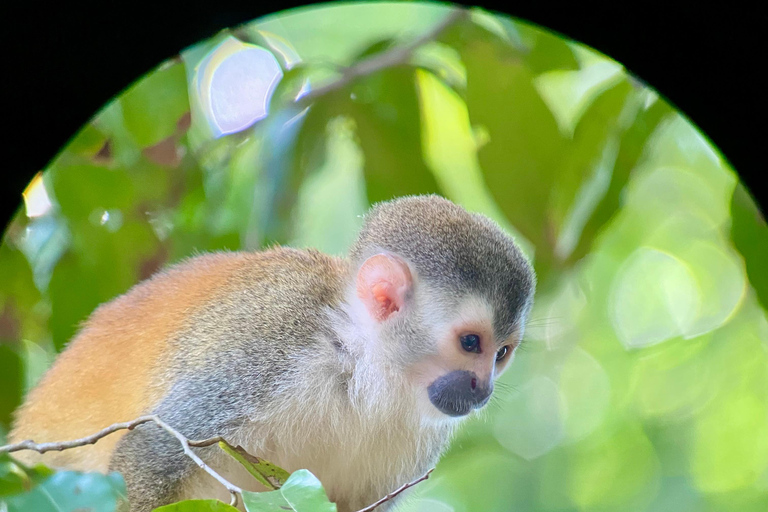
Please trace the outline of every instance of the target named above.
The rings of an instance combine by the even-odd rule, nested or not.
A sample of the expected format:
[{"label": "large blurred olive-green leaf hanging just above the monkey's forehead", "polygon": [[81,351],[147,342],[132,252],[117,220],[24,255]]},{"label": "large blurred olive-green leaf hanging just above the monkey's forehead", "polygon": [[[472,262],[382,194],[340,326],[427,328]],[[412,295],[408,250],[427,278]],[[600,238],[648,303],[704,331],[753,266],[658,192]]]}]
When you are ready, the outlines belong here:
[{"label": "large blurred olive-green leaf hanging just above the monkey's forehead", "polygon": [[460,53],[467,67],[469,122],[489,135],[478,150],[486,186],[508,221],[536,247],[536,270],[543,274],[554,246],[546,207],[568,141],[534,88],[534,74],[506,43],[479,38]]}]

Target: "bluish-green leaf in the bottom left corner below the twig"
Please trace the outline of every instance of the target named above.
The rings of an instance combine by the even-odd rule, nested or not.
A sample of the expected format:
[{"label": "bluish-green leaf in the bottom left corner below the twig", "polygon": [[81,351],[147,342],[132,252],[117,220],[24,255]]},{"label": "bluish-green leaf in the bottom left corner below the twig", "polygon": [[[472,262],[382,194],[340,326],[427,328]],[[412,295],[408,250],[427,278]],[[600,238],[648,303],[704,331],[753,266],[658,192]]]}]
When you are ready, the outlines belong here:
[{"label": "bluish-green leaf in the bottom left corner below the twig", "polygon": [[118,473],[54,473],[23,494],[3,498],[8,512],[113,512],[125,500]]}]

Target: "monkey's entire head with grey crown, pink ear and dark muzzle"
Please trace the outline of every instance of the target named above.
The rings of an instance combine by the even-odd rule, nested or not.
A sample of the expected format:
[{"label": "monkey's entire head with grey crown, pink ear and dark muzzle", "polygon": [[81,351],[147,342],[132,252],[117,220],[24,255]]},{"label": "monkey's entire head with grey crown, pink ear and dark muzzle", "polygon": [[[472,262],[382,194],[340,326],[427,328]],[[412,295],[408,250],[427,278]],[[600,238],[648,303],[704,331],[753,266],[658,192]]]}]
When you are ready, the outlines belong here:
[{"label": "monkey's entire head with grey crown, pink ear and dark muzzle", "polygon": [[376,205],[351,253],[356,300],[422,414],[444,420],[485,405],[520,343],[533,269],[487,217],[439,196]]}]

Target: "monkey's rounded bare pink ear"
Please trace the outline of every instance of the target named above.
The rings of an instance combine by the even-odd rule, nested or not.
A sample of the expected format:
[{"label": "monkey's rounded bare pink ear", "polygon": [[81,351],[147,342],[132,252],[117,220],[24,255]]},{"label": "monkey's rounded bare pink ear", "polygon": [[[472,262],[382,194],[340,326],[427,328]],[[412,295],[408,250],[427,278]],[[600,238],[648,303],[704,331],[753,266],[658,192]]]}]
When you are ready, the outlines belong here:
[{"label": "monkey's rounded bare pink ear", "polygon": [[371,256],[357,273],[357,296],[377,322],[400,311],[413,280],[408,265],[396,256]]}]

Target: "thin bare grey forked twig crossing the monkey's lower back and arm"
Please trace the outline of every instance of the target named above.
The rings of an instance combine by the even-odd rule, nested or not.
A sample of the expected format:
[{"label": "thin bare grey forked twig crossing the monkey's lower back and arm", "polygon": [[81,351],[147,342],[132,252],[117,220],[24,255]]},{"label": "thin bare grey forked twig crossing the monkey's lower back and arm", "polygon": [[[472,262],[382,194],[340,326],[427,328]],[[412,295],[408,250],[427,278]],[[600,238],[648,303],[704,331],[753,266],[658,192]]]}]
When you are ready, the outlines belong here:
[{"label": "thin bare grey forked twig crossing the monkey's lower back and arm", "polygon": [[190,441],[189,439],[184,437],[184,435],[181,432],[171,427],[170,425],[168,425],[166,422],[164,422],[154,414],[150,414],[147,416],[140,416],[133,421],[115,423],[102,430],[99,430],[95,434],[91,434],[90,436],[82,437],[80,439],[75,439],[72,441],[61,441],[56,443],[35,443],[33,440],[28,439],[26,441],[21,441],[19,443],[0,446],[0,454],[17,452],[21,450],[33,450],[38,453],[68,450],[70,448],[77,448],[79,446],[94,444],[99,439],[106,437],[109,434],[112,434],[114,432],[117,432],[118,430],[133,430],[139,425],[143,423],[149,423],[149,422],[154,422],[158,427],[162,428],[163,430],[171,434],[173,437],[175,437],[181,444],[181,447],[184,450],[184,453],[187,455],[187,457],[192,459],[194,463],[197,464],[203,471],[211,475],[221,485],[223,485],[227,489],[227,491],[229,491],[229,494],[231,496],[230,504],[232,506],[237,506],[240,500],[240,495],[242,494],[243,490],[240,487],[237,487],[236,485],[230,483],[228,480],[226,480],[224,477],[222,477],[216,471],[214,471],[213,468],[211,468],[210,466],[208,466],[208,464],[203,462],[203,459],[198,457],[197,454],[193,452],[191,448],[192,446],[196,446],[196,447],[209,446],[222,439],[220,437],[215,437],[211,439],[204,439],[202,441]]}]

